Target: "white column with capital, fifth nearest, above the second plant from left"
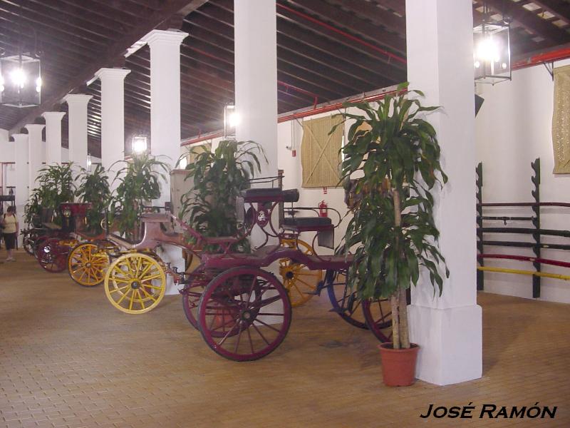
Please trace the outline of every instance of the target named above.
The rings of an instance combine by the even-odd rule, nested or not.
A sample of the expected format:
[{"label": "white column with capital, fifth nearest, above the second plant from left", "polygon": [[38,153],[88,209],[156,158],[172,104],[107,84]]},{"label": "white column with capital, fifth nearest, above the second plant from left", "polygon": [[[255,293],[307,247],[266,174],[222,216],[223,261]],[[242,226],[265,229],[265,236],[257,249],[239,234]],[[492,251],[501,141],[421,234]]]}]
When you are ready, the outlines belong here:
[{"label": "white column with capital, fifth nearest, above the second plant from left", "polygon": [[87,103],[91,98],[84,93],[70,93],[63,98],[69,107],[69,161],[76,168],[87,167]]}]

